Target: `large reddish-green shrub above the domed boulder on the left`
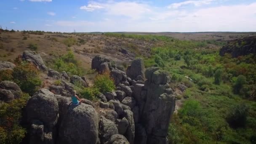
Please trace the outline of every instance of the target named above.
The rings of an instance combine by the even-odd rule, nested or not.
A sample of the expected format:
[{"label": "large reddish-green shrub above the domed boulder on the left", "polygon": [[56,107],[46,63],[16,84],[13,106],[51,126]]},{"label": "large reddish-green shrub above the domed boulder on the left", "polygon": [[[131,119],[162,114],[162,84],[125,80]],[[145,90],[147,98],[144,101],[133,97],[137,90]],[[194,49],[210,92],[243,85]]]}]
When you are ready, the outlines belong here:
[{"label": "large reddish-green shrub above the domed boulder on the left", "polygon": [[38,69],[27,62],[22,62],[13,68],[13,81],[29,95],[33,95],[42,84]]}]

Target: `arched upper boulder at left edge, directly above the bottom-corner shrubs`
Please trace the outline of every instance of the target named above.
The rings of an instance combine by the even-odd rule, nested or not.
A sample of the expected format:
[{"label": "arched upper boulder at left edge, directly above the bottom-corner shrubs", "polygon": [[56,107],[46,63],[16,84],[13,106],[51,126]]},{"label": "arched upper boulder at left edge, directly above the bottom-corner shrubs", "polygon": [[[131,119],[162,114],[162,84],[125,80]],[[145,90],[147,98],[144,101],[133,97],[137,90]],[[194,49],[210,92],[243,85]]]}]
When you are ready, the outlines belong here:
[{"label": "arched upper boulder at left edge, directly above the bottom-corner shrubs", "polygon": [[20,98],[22,91],[16,83],[10,81],[2,81],[0,83],[0,89],[5,89],[13,93],[14,99]]}]

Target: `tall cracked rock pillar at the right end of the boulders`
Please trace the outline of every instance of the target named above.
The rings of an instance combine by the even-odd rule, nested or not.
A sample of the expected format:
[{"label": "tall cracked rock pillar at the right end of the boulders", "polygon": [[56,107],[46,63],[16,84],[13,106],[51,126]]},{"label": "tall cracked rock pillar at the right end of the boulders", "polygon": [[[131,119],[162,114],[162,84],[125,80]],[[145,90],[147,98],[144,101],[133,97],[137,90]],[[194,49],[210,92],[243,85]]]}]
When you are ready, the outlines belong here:
[{"label": "tall cracked rock pillar at the right end of the boulders", "polygon": [[147,96],[141,114],[141,124],[147,132],[148,144],[155,144],[157,141],[167,144],[168,126],[175,107],[174,96],[166,93],[170,88],[167,83],[168,74],[155,67],[147,69],[145,74],[147,80],[144,88],[147,90]]}]

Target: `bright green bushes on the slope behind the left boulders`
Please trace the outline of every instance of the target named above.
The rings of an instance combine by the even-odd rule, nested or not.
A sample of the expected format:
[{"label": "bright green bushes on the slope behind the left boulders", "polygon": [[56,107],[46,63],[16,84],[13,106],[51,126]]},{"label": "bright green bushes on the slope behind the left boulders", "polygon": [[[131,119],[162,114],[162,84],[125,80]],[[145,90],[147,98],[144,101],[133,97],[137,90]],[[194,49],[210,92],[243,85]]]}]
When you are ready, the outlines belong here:
[{"label": "bright green bushes on the slope behind the left boulders", "polygon": [[67,54],[56,59],[50,67],[59,72],[66,71],[71,75],[81,76],[85,73],[85,70],[81,67],[80,62],[75,59],[72,51],[68,51]]}]

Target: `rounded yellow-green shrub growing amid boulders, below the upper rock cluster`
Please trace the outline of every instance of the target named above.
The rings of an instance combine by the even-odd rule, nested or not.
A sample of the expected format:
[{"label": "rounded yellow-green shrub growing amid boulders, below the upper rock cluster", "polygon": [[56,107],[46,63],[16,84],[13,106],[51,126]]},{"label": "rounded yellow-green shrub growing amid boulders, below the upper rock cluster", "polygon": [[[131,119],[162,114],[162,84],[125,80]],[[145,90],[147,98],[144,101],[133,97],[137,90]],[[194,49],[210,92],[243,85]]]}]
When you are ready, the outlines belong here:
[{"label": "rounded yellow-green shrub growing amid boulders, below the upper rock cluster", "polygon": [[99,89],[101,93],[107,93],[115,90],[114,81],[109,76],[109,73],[97,75],[93,87]]}]

